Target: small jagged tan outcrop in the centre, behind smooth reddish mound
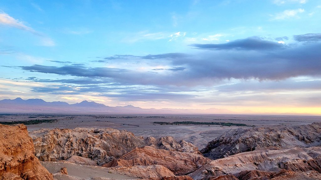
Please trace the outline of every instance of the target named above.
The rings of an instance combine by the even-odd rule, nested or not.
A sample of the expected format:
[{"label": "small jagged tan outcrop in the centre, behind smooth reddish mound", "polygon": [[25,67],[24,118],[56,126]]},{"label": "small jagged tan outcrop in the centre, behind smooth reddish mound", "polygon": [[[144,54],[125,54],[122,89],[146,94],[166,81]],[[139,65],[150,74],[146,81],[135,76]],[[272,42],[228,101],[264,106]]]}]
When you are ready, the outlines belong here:
[{"label": "small jagged tan outcrop in the centre, behind smooth reddish mound", "polygon": [[160,137],[158,139],[154,137],[147,137],[145,139],[145,143],[146,143],[146,146],[151,146],[156,149],[200,154],[200,151],[198,151],[198,148],[194,146],[192,143],[188,143],[184,140],[180,140],[179,142],[177,142],[171,136]]}]

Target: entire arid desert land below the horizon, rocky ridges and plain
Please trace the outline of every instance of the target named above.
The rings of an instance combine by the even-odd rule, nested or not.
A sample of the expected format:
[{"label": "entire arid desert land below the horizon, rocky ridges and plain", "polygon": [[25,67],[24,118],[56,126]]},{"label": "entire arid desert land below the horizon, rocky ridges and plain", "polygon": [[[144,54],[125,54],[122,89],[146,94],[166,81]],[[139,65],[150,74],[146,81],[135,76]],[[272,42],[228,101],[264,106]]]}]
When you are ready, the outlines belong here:
[{"label": "entire arid desert land below the horizon, rocky ridges and plain", "polygon": [[0,114],[13,121],[50,123],[0,125],[0,180],[321,179],[317,116]]}]

